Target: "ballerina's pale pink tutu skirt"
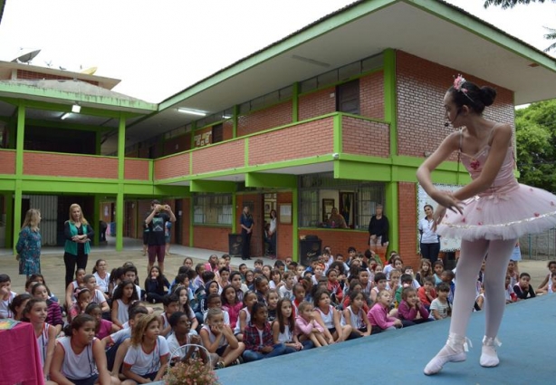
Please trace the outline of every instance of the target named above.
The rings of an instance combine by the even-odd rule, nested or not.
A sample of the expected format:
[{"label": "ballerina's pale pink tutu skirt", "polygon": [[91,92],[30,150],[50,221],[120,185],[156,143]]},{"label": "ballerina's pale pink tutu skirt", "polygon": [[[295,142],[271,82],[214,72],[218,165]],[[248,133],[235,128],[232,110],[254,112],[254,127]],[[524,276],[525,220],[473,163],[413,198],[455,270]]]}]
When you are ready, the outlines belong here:
[{"label": "ballerina's pale pink tutu skirt", "polygon": [[[506,191],[503,191],[506,190]],[[556,196],[526,185],[492,188],[465,201],[463,214],[447,211],[437,233],[446,238],[516,239],[556,226]]]}]

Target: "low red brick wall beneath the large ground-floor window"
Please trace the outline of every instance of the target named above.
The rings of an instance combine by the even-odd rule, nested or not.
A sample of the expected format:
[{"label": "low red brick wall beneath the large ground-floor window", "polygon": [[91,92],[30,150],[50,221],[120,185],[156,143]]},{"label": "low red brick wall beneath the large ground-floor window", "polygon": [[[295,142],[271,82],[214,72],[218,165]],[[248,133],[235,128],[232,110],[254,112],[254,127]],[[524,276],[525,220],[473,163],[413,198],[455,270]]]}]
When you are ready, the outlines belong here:
[{"label": "low red brick wall beneath the large ground-floor window", "polygon": [[[300,228],[299,236],[318,236],[322,240],[322,247],[331,246],[332,253],[348,255],[348,247],[353,246],[363,253],[369,248],[369,233],[356,230],[331,230],[318,228]],[[297,241],[299,243],[299,241]],[[298,252],[299,253],[301,251]]]}]

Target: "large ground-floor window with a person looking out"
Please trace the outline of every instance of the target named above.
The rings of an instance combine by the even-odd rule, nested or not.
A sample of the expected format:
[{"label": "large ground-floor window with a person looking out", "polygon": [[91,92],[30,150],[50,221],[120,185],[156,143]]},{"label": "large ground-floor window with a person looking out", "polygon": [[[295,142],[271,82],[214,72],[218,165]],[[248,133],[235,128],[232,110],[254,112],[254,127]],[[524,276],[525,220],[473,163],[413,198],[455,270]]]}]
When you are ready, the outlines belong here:
[{"label": "large ground-floor window with a person looking out", "polygon": [[348,227],[366,229],[375,207],[384,205],[384,183],[335,179],[332,173],[323,173],[304,175],[299,184],[300,227],[331,226],[326,220],[330,212],[323,210],[336,207]]}]

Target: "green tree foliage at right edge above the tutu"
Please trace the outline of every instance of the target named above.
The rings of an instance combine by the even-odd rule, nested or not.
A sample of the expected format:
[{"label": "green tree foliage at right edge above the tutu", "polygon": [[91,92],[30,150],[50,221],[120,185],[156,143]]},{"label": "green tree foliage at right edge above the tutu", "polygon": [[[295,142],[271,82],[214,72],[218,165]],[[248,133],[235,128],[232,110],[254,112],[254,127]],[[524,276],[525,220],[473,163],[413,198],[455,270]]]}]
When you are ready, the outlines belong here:
[{"label": "green tree foliage at right edge above the tutu", "polygon": [[520,182],[556,191],[556,100],[516,111],[515,141]]}]

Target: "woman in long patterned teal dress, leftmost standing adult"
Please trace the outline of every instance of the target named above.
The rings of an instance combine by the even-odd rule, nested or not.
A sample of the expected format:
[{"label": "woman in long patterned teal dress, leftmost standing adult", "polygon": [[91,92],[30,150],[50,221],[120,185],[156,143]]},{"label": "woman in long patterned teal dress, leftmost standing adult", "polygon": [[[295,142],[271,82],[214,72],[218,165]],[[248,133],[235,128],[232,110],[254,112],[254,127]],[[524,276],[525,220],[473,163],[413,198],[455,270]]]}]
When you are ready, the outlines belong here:
[{"label": "woman in long patterned teal dress, leftmost standing adult", "polygon": [[19,232],[19,239],[15,250],[19,261],[19,274],[27,275],[41,274],[41,212],[36,208],[30,208],[25,214],[24,226]]}]

